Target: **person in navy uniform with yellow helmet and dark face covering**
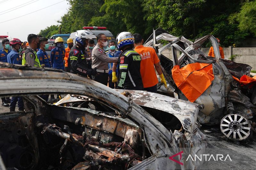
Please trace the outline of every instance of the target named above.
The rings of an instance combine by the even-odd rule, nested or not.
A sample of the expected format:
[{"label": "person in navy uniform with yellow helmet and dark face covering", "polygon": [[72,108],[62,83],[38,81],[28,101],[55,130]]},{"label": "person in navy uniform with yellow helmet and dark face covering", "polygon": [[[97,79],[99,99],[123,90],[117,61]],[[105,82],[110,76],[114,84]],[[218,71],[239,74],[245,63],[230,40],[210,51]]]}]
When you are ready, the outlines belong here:
[{"label": "person in navy uniform with yellow helmet and dark face covering", "polygon": [[65,56],[65,49],[62,47],[63,42],[64,41],[61,37],[57,37],[54,41],[56,47],[51,51],[51,62],[52,68],[54,69],[64,70],[63,59]]}]

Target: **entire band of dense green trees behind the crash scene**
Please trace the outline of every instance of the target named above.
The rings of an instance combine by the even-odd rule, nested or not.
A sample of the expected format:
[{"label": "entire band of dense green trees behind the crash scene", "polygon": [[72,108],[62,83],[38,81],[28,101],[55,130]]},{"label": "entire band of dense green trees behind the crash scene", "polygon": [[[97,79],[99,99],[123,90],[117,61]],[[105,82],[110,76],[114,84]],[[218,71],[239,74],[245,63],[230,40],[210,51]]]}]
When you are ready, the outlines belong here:
[{"label": "entire band of dense green trees behind the crash scene", "polygon": [[[83,26],[106,26],[114,36],[122,31],[140,33],[144,39],[162,27],[190,40],[212,34],[221,45],[239,46],[256,36],[256,0],[68,0],[71,7],[58,26],[40,31],[71,33]],[[60,29],[61,28],[61,29]]]}]

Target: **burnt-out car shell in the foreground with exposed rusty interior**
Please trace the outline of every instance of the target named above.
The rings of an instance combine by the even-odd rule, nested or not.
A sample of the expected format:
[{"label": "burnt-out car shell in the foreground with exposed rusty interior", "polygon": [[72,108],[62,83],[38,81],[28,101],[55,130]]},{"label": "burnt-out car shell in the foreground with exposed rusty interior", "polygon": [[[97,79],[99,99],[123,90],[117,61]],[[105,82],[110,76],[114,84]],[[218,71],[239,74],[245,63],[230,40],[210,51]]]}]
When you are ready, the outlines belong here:
[{"label": "burnt-out car shell in the foreground with exposed rusty interior", "polygon": [[[0,84],[1,97],[22,96],[25,107],[25,112],[0,115],[6,167],[200,167],[199,162],[180,165],[169,159],[182,148],[204,153],[207,141],[196,124],[199,104],[145,91],[115,91],[61,70],[6,63],[0,63]],[[56,93],[69,95],[55,105],[39,97]]]}]

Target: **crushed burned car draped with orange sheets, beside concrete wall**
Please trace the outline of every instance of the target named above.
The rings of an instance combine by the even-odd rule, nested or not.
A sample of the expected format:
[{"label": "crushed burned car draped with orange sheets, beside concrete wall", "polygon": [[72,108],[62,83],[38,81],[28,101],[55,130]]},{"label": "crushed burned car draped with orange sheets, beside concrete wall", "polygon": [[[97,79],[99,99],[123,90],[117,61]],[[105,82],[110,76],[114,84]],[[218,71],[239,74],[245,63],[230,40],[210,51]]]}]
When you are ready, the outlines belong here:
[{"label": "crushed burned car draped with orange sheets, beside concrete wall", "polygon": [[[199,49],[207,40],[213,46],[215,57]],[[167,89],[159,85],[159,93],[200,104],[203,109],[197,122],[220,124],[221,132],[228,139],[241,141],[252,136],[256,87],[255,79],[250,77],[251,66],[221,59],[219,45],[212,35],[192,42],[158,28],[144,46],[156,50],[168,82]],[[172,53],[170,58],[163,54],[168,48]],[[249,83],[244,84],[242,79]]]}]

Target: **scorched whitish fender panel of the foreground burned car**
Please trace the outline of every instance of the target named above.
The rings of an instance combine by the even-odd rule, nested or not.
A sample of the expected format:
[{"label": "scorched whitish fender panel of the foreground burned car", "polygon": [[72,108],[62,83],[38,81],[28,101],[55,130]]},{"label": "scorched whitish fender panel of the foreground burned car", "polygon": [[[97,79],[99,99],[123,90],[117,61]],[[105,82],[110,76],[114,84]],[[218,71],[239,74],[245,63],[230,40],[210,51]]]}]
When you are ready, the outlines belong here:
[{"label": "scorched whitish fender panel of the foreground burned car", "polygon": [[120,93],[129,91],[132,94],[132,100],[136,104],[170,113],[180,120],[185,130],[193,131],[200,108],[198,104],[147,91],[116,91]]}]

